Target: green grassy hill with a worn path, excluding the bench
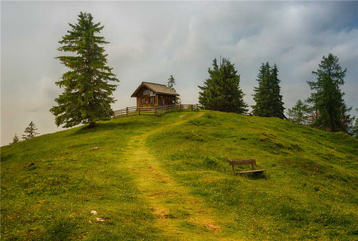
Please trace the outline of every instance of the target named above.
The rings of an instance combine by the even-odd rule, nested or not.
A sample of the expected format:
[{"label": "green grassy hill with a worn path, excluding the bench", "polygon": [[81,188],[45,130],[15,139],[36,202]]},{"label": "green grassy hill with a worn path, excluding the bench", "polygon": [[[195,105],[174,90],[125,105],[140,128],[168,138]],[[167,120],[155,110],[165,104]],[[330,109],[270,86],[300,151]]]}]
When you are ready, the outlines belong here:
[{"label": "green grassy hill with a worn path, excluding the bench", "polygon": [[[358,141],[343,133],[175,112],[0,151],[0,240],[358,240]],[[248,158],[264,175],[231,172]]]}]

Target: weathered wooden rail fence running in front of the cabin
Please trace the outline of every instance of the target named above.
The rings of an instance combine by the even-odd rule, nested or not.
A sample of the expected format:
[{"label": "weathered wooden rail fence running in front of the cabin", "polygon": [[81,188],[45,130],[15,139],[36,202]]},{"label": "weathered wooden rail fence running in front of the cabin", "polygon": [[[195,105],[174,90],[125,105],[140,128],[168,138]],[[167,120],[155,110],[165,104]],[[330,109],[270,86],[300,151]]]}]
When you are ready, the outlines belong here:
[{"label": "weathered wooden rail fence running in front of the cabin", "polygon": [[115,110],[115,115],[113,118],[117,118],[120,116],[128,116],[128,115],[161,115],[170,111],[181,111],[181,110],[199,110],[198,104],[175,104],[175,105],[168,105],[168,106],[162,106],[162,107],[139,107],[133,106],[133,107],[127,107],[120,110]]}]

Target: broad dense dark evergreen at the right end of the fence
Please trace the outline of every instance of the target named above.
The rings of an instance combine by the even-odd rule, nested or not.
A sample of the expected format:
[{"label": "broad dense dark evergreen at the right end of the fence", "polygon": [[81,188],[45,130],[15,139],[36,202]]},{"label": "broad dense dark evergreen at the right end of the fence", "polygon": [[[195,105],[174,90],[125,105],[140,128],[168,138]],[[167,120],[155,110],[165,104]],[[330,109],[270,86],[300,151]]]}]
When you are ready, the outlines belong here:
[{"label": "broad dense dark evergreen at the right end of the fence", "polygon": [[220,58],[219,65],[216,58],[213,68],[208,69],[210,78],[204,86],[198,86],[199,103],[206,110],[244,113],[248,105],[243,101],[244,93],[239,87],[240,75],[237,75],[234,64],[226,58]]}]

